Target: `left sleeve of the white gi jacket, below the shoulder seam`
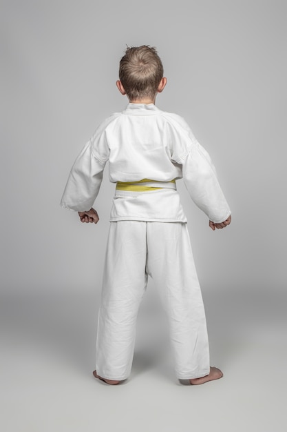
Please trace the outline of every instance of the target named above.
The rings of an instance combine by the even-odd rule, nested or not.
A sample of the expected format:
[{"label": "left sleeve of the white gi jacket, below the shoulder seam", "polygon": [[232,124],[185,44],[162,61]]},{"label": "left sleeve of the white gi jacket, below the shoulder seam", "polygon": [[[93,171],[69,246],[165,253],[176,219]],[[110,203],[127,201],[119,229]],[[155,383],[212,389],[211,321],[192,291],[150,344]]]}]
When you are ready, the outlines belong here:
[{"label": "left sleeve of the white gi jacket, below the shoulder seam", "polygon": [[108,157],[105,133],[100,136],[96,133],[85,144],[72,166],[60,203],[63,208],[76,211],[92,208],[100,190]]}]

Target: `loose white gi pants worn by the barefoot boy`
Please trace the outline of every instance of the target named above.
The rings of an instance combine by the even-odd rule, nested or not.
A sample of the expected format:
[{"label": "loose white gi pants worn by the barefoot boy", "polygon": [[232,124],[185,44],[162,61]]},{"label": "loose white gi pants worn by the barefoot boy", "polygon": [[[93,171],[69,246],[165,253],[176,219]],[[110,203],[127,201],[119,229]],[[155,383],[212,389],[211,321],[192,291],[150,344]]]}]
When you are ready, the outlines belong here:
[{"label": "loose white gi pants worn by the barefoot boy", "polygon": [[153,277],[169,319],[176,376],[207,375],[209,342],[187,224],[111,222],[98,316],[96,371],[125,380],[131,371],[136,317]]}]

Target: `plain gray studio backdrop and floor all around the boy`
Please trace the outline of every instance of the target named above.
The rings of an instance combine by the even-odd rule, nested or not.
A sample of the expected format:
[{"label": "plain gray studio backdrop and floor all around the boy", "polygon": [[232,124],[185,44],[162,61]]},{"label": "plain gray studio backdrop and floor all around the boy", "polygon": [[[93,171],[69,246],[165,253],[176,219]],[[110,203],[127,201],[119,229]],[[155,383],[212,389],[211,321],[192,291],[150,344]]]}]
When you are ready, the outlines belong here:
[{"label": "plain gray studio backdrop and floor all around the boy", "polygon": [[[0,4],[3,429],[285,431],[286,1]],[[233,211],[213,233],[178,182],[225,373],[205,386],[173,376],[152,281],[130,380],[92,379],[114,185],[105,173],[98,226],[59,207],[76,155],[125,108],[118,61],[142,44],[168,79],[156,104],[190,124]]]}]

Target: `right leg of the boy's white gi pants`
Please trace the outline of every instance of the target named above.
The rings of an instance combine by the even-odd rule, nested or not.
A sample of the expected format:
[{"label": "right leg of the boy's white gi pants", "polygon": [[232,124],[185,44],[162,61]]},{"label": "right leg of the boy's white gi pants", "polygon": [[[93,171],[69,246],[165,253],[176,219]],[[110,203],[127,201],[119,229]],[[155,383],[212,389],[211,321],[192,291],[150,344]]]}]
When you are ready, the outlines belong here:
[{"label": "right leg of the boy's white gi pants", "polygon": [[209,373],[209,341],[187,224],[147,223],[147,272],[169,318],[179,379]]}]

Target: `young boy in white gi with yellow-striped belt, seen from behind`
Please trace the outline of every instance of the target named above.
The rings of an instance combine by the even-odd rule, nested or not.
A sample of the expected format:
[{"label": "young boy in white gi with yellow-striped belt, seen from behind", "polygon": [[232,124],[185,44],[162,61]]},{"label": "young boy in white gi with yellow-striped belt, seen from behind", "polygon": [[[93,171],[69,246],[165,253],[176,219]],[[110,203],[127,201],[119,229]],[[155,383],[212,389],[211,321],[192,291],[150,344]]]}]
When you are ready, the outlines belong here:
[{"label": "young boy in white gi with yellow-striped belt, seen from behind", "polygon": [[156,108],[167,84],[155,48],[127,48],[116,86],[129,104],[101,124],[72,167],[61,206],[81,222],[98,222],[92,208],[109,161],[116,183],[98,316],[96,370],[107,384],[129,377],[136,317],[147,277],[155,280],[169,318],[178,379],[203,384],[222,377],[209,365],[204,306],[187,219],[176,190],[183,177],[191,198],[224,228],[231,211],[209,154],[178,115]]}]

